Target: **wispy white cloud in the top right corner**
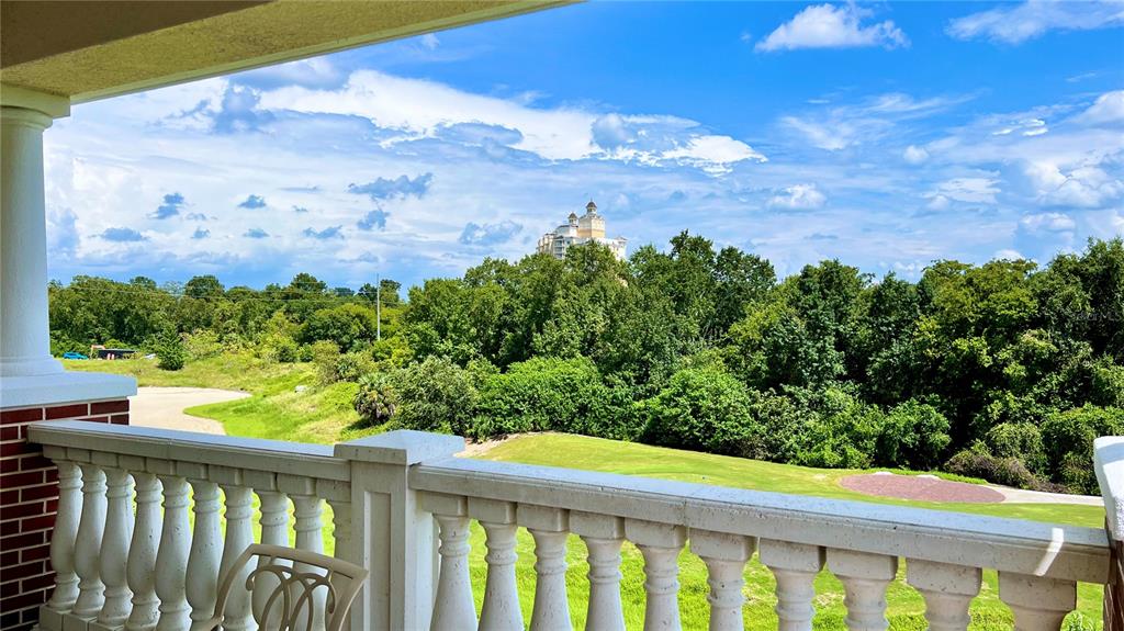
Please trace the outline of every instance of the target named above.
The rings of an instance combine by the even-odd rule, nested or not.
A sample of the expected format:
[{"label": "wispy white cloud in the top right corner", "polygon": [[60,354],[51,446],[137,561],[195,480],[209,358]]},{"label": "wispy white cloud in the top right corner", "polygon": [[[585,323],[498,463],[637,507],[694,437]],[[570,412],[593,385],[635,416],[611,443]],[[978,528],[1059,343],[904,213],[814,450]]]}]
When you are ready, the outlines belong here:
[{"label": "wispy white cloud in the top right corner", "polygon": [[1021,44],[1050,30],[1091,30],[1124,26],[1124,3],[1118,0],[1027,0],[957,18],[948,33],[958,39],[985,38]]}]

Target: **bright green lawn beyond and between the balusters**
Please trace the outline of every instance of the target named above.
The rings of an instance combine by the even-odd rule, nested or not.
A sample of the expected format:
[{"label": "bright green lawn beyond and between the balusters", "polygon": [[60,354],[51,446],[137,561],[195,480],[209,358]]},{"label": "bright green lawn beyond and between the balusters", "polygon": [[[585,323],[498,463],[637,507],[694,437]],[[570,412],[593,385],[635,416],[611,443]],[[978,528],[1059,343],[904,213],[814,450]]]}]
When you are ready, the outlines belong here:
[{"label": "bright green lawn beyond and between the balusters", "polygon": [[[330,443],[378,431],[356,430],[357,420],[351,409],[354,395],[353,384],[317,385],[316,374],[308,364],[269,364],[245,355],[221,356],[202,362],[189,363],[179,372],[165,372],[153,362],[133,360],[85,360],[66,362],[69,369],[112,372],[133,374],[140,385],[202,386],[244,390],[250,399],[216,403],[193,408],[190,413],[218,420],[227,433],[259,438],[274,438],[308,442]],[[307,385],[302,393],[294,392],[297,385]],[[517,437],[500,443],[481,458],[516,461],[545,466],[565,466],[580,469],[643,475],[665,479],[696,482],[753,488],[859,500],[886,504],[914,505],[946,511],[964,511],[1017,519],[1062,522],[1099,528],[1104,523],[1104,511],[1090,506],[1057,504],[957,504],[909,502],[905,500],[876,499],[849,491],[839,485],[839,478],[853,470],[814,469],[791,465],[761,463],[744,458],[714,456],[692,451],[664,449],[637,443],[617,442],[569,435],[536,435]],[[330,523],[330,511],[325,506],[324,520]],[[483,561],[484,537],[482,529],[473,525],[471,571],[479,609],[483,597],[487,566]],[[332,538],[325,537],[326,551],[332,551]],[[534,543],[531,536],[520,531],[518,540],[519,560],[516,566],[520,587],[520,600],[525,622],[531,620],[534,597]],[[566,579],[570,588],[570,611],[574,628],[581,629],[586,619],[586,579],[588,566],[584,563],[584,545],[571,537],[569,549],[570,569]],[[623,551],[624,580],[622,596],[625,619],[629,629],[640,629],[644,611],[643,559],[640,552],[626,543]],[[706,567],[686,550],[680,558],[680,610],[683,628],[705,629],[707,620]],[[772,575],[754,559],[745,571],[745,622],[746,629],[776,629],[773,613],[776,596]],[[843,630],[842,585],[828,573],[816,580],[817,618],[815,628]],[[1081,585],[1078,612],[1069,618],[1070,629],[1102,629],[1102,588]],[[921,596],[905,583],[905,568],[891,584],[887,594],[888,614],[892,630],[925,629],[924,603]],[[1012,628],[1010,612],[998,600],[994,571],[985,573],[985,584],[980,595],[972,603],[973,630],[1007,630]],[[1096,622],[1095,622],[1096,621]]]}]

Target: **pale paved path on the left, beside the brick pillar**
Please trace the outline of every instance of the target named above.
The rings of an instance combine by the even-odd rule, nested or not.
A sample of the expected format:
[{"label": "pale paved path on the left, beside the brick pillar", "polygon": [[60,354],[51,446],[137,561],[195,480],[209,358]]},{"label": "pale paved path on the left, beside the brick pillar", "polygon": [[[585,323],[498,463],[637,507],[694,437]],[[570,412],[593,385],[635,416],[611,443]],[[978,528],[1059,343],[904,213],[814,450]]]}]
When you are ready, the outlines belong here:
[{"label": "pale paved path on the left, beside the brick pillar", "polygon": [[225,435],[223,423],[192,417],[187,408],[250,396],[248,392],[214,387],[138,387],[129,402],[129,424]]}]

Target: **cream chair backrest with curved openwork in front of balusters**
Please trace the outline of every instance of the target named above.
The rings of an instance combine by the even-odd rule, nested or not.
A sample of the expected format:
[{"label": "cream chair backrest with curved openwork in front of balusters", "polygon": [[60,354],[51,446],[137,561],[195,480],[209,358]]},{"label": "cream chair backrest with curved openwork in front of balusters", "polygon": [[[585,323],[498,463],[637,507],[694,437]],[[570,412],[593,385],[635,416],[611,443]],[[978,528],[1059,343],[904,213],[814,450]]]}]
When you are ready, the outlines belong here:
[{"label": "cream chair backrest with curved openwork in front of balusters", "polygon": [[[321,615],[326,619],[325,631],[341,631],[368,575],[365,568],[334,557],[252,543],[219,583],[211,628],[221,625],[235,577],[254,557],[259,559],[257,567],[250,571],[245,588],[253,595],[262,631],[317,631],[314,621]],[[263,589],[269,592],[263,594]],[[323,614],[314,614],[317,606],[323,606]]]}]

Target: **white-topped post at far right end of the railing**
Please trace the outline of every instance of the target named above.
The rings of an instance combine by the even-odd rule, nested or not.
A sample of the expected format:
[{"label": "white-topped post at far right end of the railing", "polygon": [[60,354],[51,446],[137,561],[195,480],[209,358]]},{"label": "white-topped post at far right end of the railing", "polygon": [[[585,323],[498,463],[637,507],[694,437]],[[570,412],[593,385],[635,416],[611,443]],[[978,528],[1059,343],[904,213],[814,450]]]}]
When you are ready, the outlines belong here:
[{"label": "white-topped post at far right end of the railing", "polygon": [[1093,441],[1093,466],[1105,500],[1108,532],[1109,578],[1105,585],[1104,623],[1109,631],[1124,630],[1124,436]]}]

